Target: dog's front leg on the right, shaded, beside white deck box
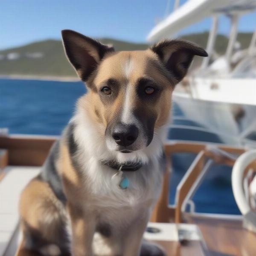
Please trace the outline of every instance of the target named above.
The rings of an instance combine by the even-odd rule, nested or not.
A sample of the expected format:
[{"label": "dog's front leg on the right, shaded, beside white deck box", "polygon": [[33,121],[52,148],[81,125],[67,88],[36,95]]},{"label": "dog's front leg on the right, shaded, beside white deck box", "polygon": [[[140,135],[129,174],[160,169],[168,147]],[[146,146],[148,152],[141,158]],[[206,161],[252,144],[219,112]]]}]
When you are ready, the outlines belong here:
[{"label": "dog's front leg on the right, shaded, beside white deck box", "polygon": [[124,234],[123,256],[139,256],[140,247],[145,228],[147,227],[149,213],[137,218],[131,223]]}]

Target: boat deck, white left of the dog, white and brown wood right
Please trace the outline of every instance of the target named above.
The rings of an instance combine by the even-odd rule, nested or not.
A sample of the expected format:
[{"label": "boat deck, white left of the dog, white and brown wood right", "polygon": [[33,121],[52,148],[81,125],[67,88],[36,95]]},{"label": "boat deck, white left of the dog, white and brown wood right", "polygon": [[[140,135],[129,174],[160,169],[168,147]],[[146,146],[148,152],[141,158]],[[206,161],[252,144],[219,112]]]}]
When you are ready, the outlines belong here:
[{"label": "boat deck, white left of the dog, white and brown wood right", "polygon": [[[12,256],[20,240],[18,200],[39,167],[8,166],[0,180],[0,256]],[[168,256],[250,256],[256,251],[256,234],[242,228],[241,220],[188,218],[193,224],[149,223],[158,233],[144,238],[165,248]]]}]

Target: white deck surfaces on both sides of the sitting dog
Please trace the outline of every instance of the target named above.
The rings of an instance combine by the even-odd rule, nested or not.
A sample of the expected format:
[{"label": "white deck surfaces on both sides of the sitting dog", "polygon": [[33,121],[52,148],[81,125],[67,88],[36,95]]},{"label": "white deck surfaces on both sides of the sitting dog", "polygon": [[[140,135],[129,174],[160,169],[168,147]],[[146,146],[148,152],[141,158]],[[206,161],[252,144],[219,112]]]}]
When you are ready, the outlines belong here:
[{"label": "white deck surfaces on both sides of the sitting dog", "polygon": [[[13,256],[20,237],[18,230],[18,202],[20,192],[36,175],[39,167],[8,166],[0,181],[0,256]],[[185,231],[187,240],[200,240],[198,228],[192,224],[148,223],[148,227],[160,230],[158,233],[145,232],[148,240],[178,241],[180,230]]]}]

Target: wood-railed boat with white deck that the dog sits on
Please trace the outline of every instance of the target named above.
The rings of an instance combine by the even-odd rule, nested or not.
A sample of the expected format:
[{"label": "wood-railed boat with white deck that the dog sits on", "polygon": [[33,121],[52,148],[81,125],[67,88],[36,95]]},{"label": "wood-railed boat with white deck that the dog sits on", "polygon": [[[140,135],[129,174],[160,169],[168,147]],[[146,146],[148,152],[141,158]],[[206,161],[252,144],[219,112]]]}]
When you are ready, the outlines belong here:
[{"label": "wood-railed boat with white deck that the dog sits on", "polygon": [[[17,210],[21,190],[40,171],[55,136],[0,135],[0,255],[13,256],[20,241]],[[250,196],[255,177],[256,150],[184,140],[167,140],[167,159],[161,196],[144,238],[164,247],[167,256],[254,255],[256,211]],[[169,204],[171,156],[195,154],[195,158]],[[232,186],[242,214],[210,214],[195,211],[193,195],[212,164],[234,166]],[[253,179],[254,180],[254,179]],[[256,196],[255,189],[253,196]],[[254,198],[255,199],[255,198]]]}]

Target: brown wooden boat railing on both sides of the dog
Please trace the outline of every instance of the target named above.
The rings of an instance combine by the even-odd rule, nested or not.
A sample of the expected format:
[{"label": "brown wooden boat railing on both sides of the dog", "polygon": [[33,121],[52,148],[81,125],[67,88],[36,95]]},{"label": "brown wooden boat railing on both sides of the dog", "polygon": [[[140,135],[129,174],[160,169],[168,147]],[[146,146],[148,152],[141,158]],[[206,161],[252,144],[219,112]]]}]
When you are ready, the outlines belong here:
[{"label": "brown wooden boat railing on both sides of the dog", "polygon": [[[9,135],[0,137],[0,148],[6,151],[5,165],[41,166],[49,153],[49,149],[58,137]],[[184,205],[190,204],[190,198],[198,184],[209,170],[212,163],[233,166],[236,157],[245,152],[244,147],[228,146],[217,143],[167,140],[164,145],[167,159],[166,173],[163,179],[163,189],[159,201],[151,215],[151,221],[169,222],[183,221]],[[171,156],[176,153],[197,154],[177,186],[175,204],[169,205],[169,177],[171,175]],[[250,164],[256,169],[256,162]],[[4,173],[3,173],[4,175]],[[191,213],[193,214],[193,212]]]}]

